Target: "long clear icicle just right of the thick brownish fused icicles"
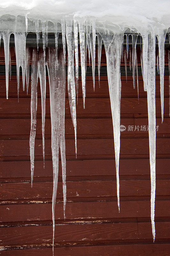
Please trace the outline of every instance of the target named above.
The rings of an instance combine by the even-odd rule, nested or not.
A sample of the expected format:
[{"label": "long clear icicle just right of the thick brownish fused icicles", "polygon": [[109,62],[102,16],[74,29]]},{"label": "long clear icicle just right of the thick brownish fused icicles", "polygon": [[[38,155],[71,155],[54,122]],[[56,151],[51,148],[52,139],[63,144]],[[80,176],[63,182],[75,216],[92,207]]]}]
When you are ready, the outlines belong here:
[{"label": "long clear icicle just right of the thick brownish fused icicles", "polygon": [[[75,133],[75,148],[77,156],[77,139],[76,139],[76,88],[74,80],[74,43],[72,33],[72,21],[66,21],[66,39],[68,50],[68,93],[70,102],[70,111]],[[82,81],[83,84],[83,81]]]}]

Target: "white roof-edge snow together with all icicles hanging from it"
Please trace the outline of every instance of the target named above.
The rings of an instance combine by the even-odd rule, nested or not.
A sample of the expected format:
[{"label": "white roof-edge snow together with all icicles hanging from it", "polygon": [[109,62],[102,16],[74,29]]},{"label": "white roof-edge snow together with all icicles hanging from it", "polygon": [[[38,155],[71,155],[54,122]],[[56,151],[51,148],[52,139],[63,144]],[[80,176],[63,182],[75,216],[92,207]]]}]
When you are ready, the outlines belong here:
[{"label": "white roof-edge snow together with all icicles hanging from it", "polygon": [[[127,79],[127,59],[133,74],[135,88],[135,68],[138,87],[137,37],[140,36],[140,60],[144,80],[144,91],[147,91],[148,121],[149,121],[149,151],[151,168],[151,221],[153,240],[155,239],[154,204],[155,204],[155,154],[156,154],[156,113],[155,113],[155,43],[158,39],[159,55],[157,66],[160,74],[161,116],[163,121],[164,108],[164,42],[166,33],[169,33],[170,16],[169,1],[135,1],[129,3],[122,0],[106,0],[104,4],[98,0],[87,1],[0,1],[0,37],[4,40],[5,68],[6,68],[6,97],[8,99],[8,79],[11,77],[11,56],[9,51],[10,35],[15,37],[15,52],[17,65],[17,84],[19,97],[19,68],[22,68],[23,90],[28,92],[29,66],[31,71],[31,133],[30,159],[31,184],[33,185],[34,171],[34,142],[36,132],[37,110],[37,82],[40,79],[41,106],[42,106],[42,139],[43,159],[45,161],[45,99],[46,99],[46,67],[48,69],[50,87],[51,111],[51,148],[53,160],[53,252],[55,228],[55,199],[58,180],[58,157],[61,151],[63,171],[64,218],[66,206],[66,158],[64,134],[64,107],[65,107],[65,63],[68,66],[68,94],[70,112],[76,140],[76,96],[78,102],[78,42],[80,45],[80,61],[82,76],[83,102],[85,108],[85,76],[87,49],[89,64],[92,65],[93,87],[95,89],[95,51],[98,42],[98,73],[100,82],[100,58],[102,41],[107,58],[107,76],[111,111],[113,119],[113,133],[115,144],[115,162],[117,179],[117,199],[119,205],[119,153],[120,153],[120,100],[121,100],[121,56],[124,58]],[[152,11],[151,11],[152,10]],[[57,18],[56,18],[57,17]],[[31,51],[26,47],[28,32],[36,33],[37,48]],[[48,48],[48,33],[55,34],[55,48]],[[126,34],[124,34],[126,32]],[[38,47],[42,33],[43,48]],[[63,49],[58,49],[58,35],[62,33]],[[123,48],[123,36],[126,36],[126,47]],[[96,39],[97,37],[97,39]],[[132,48],[129,39],[132,38]],[[66,55],[67,47],[67,55]],[[67,59],[68,57],[68,59]],[[168,52],[170,68],[170,52]],[[170,92],[170,89],[169,89]],[[169,101],[170,105],[170,101]]]}]

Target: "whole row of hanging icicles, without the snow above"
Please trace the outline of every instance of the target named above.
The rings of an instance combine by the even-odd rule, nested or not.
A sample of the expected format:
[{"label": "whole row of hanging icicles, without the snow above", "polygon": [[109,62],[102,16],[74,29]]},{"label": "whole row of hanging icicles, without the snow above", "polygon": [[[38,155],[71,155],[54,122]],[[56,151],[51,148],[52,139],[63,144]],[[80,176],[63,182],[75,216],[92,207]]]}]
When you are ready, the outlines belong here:
[{"label": "whole row of hanging icicles, without the snow above", "polygon": [[[127,58],[129,54],[130,69],[133,70],[133,86],[135,88],[135,68],[137,72],[137,54],[136,43],[138,34],[132,35],[132,51],[129,48],[129,36],[127,36],[126,48],[123,48],[124,31],[116,28],[115,32],[111,32],[104,27],[97,30],[95,21],[89,22],[82,20],[61,20],[63,49],[57,49],[57,23],[55,28],[55,48],[46,48],[48,44],[48,22],[42,21],[42,39],[43,49],[38,50],[38,42],[40,32],[38,30],[38,22],[35,23],[37,28],[37,48],[33,49],[32,55],[32,71],[31,71],[31,133],[30,133],[30,158],[31,158],[31,184],[33,184],[34,172],[34,142],[36,132],[36,110],[37,110],[37,82],[40,78],[41,85],[41,104],[42,104],[42,136],[43,136],[43,158],[44,151],[44,125],[45,125],[45,99],[46,99],[46,66],[48,68],[49,88],[50,88],[50,111],[51,111],[51,148],[53,160],[53,253],[54,253],[54,228],[55,228],[55,199],[58,180],[58,161],[59,148],[61,150],[62,172],[63,172],[63,197],[64,197],[64,218],[66,205],[66,157],[65,157],[65,132],[64,132],[64,107],[65,107],[65,62],[66,62],[66,42],[68,52],[68,94],[70,102],[70,111],[75,131],[75,148],[77,154],[76,140],[76,95],[78,100],[78,33],[80,41],[80,58],[81,58],[81,76],[82,91],[85,108],[85,76],[86,76],[86,57],[87,48],[89,60],[92,60],[92,76],[93,86],[95,85],[95,46],[96,36],[98,41],[98,72],[100,82],[100,57],[102,41],[104,43],[107,58],[107,76],[109,85],[109,94],[111,102],[111,111],[113,119],[114,144],[115,144],[115,163],[116,163],[116,179],[117,179],[117,199],[119,206],[119,154],[120,154],[120,100],[121,100],[121,55],[125,62],[125,71],[127,76]],[[159,44],[158,67],[160,74],[160,94],[161,94],[161,113],[163,121],[164,108],[164,42],[167,30],[159,29],[138,29],[141,36],[141,67],[144,80],[144,91],[147,91],[148,102],[148,121],[149,121],[149,149],[150,149],[150,168],[151,168],[151,220],[152,234],[155,239],[154,225],[154,204],[155,204],[155,154],[156,154],[156,113],[155,113],[155,43],[156,36]],[[9,65],[9,38],[10,33],[0,33],[4,40],[5,67],[6,67],[6,93],[8,98],[8,74],[11,71]],[[25,75],[28,92],[29,81],[29,65],[30,65],[30,49],[26,48],[26,32],[14,32],[15,36],[15,52],[17,65],[17,81],[19,93],[19,67],[22,67],[23,89],[25,86]],[[170,52],[168,53],[170,65]],[[10,67],[10,68],[9,68]],[[138,76],[138,74],[137,74]],[[137,82],[138,86],[138,82]]]}]

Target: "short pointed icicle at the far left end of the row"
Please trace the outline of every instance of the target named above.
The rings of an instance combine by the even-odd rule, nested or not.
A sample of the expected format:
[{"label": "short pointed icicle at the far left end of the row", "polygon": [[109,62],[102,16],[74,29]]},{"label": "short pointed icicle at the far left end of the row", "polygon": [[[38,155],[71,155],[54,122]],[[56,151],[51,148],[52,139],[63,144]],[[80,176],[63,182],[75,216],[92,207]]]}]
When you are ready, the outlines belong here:
[{"label": "short pointed icicle at the far left end of the row", "polygon": [[6,98],[8,99],[8,83],[9,83],[9,44],[10,44],[10,32],[1,32],[0,36],[4,41],[4,53],[5,53],[5,76],[6,76]]}]

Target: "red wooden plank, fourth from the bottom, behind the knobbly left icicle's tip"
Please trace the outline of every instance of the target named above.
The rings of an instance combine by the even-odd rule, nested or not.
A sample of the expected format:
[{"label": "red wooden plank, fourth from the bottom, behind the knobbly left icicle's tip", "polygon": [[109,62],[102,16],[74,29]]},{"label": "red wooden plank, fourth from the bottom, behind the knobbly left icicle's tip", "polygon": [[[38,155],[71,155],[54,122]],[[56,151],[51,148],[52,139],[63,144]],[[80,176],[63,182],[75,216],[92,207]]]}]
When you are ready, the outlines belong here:
[{"label": "red wooden plank, fourth from the bottom, behind the knobbly left icicle's tip", "polygon": [[[67,181],[67,197],[117,196],[116,181]],[[0,199],[52,198],[53,182],[2,183]],[[150,180],[120,180],[120,196],[150,196]],[[156,195],[170,195],[170,180],[157,180]],[[57,198],[63,197],[63,183],[58,182]]]}]

